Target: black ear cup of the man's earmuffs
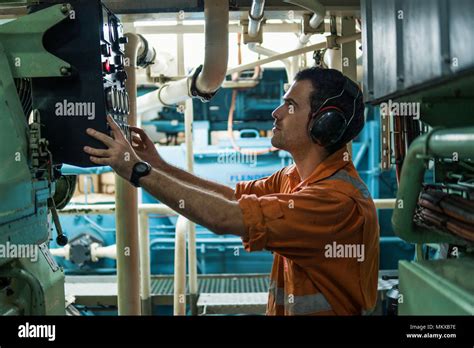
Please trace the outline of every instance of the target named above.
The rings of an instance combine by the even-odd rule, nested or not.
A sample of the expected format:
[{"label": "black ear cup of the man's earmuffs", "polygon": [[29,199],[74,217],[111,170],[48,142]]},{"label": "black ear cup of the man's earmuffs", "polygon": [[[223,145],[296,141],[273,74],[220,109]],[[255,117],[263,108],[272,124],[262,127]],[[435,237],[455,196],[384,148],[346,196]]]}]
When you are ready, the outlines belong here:
[{"label": "black ear cup of the man's earmuffs", "polygon": [[342,110],[335,106],[328,106],[321,111],[311,120],[309,133],[315,143],[331,146],[341,139],[347,120]]}]

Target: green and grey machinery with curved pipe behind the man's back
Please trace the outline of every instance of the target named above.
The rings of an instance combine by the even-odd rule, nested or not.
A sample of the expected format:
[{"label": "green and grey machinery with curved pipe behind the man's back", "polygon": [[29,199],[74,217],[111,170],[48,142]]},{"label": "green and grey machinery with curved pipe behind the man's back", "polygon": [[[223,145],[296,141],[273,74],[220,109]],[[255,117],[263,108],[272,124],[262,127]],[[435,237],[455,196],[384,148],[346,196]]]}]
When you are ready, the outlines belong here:
[{"label": "green and grey machinery with curved pipe behind the man's back", "polygon": [[[397,168],[398,313],[474,314],[474,3],[363,0],[364,94]],[[412,107],[410,109],[410,107]],[[416,112],[415,112],[416,111]],[[454,202],[454,203],[453,203]],[[434,252],[436,251],[436,252]]]}]

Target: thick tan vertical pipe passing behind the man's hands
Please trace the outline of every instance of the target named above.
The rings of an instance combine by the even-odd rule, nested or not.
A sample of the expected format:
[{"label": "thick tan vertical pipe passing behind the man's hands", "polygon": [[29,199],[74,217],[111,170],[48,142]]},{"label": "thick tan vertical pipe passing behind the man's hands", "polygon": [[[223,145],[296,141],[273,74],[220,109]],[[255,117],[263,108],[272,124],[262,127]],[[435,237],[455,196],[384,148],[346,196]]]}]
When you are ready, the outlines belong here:
[{"label": "thick tan vertical pipe passing behind the man's hands", "polygon": [[[129,124],[137,119],[137,89],[135,66],[139,37],[127,33],[125,67],[128,79],[126,88],[130,98]],[[126,180],[115,175],[115,223],[117,229],[117,304],[119,315],[140,315],[140,258],[138,243],[138,198],[137,190]]]}]

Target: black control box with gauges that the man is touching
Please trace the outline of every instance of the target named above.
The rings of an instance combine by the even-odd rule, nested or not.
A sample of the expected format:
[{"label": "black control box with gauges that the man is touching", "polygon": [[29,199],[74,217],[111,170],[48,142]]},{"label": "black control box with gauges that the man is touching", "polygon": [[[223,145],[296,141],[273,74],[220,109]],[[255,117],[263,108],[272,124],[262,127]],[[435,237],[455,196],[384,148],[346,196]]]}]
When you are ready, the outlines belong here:
[{"label": "black control box with gauges that the man is touching", "polygon": [[110,114],[130,138],[124,69],[127,38],[118,17],[98,0],[44,0],[29,11],[55,4],[69,4],[70,15],[45,33],[43,44],[72,68],[64,77],[32,79],[33,108],[40,112],[42,136],[49,142],[55,164],[96,166],[83,147],[106,147],[87,135],[87,128],[109,134]]}]

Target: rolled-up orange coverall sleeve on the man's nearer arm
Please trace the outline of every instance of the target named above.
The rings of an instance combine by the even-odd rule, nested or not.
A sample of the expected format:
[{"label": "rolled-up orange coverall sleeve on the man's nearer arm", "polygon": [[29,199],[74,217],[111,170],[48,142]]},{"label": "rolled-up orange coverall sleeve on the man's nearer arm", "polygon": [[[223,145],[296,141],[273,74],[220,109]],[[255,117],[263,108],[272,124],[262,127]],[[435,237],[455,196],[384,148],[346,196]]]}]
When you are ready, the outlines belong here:
[{"label": "rolled-up orange coverall sleeve on the man's nearer arm", "polygon": [[247,251],[275,251],[300,264],[314,261],[312,256],[324,253],[325,245],[335,238],[350,239],[364,222],[351,198],[321,189],[242,195],[239,206],[247,229],[243,239]]}]

